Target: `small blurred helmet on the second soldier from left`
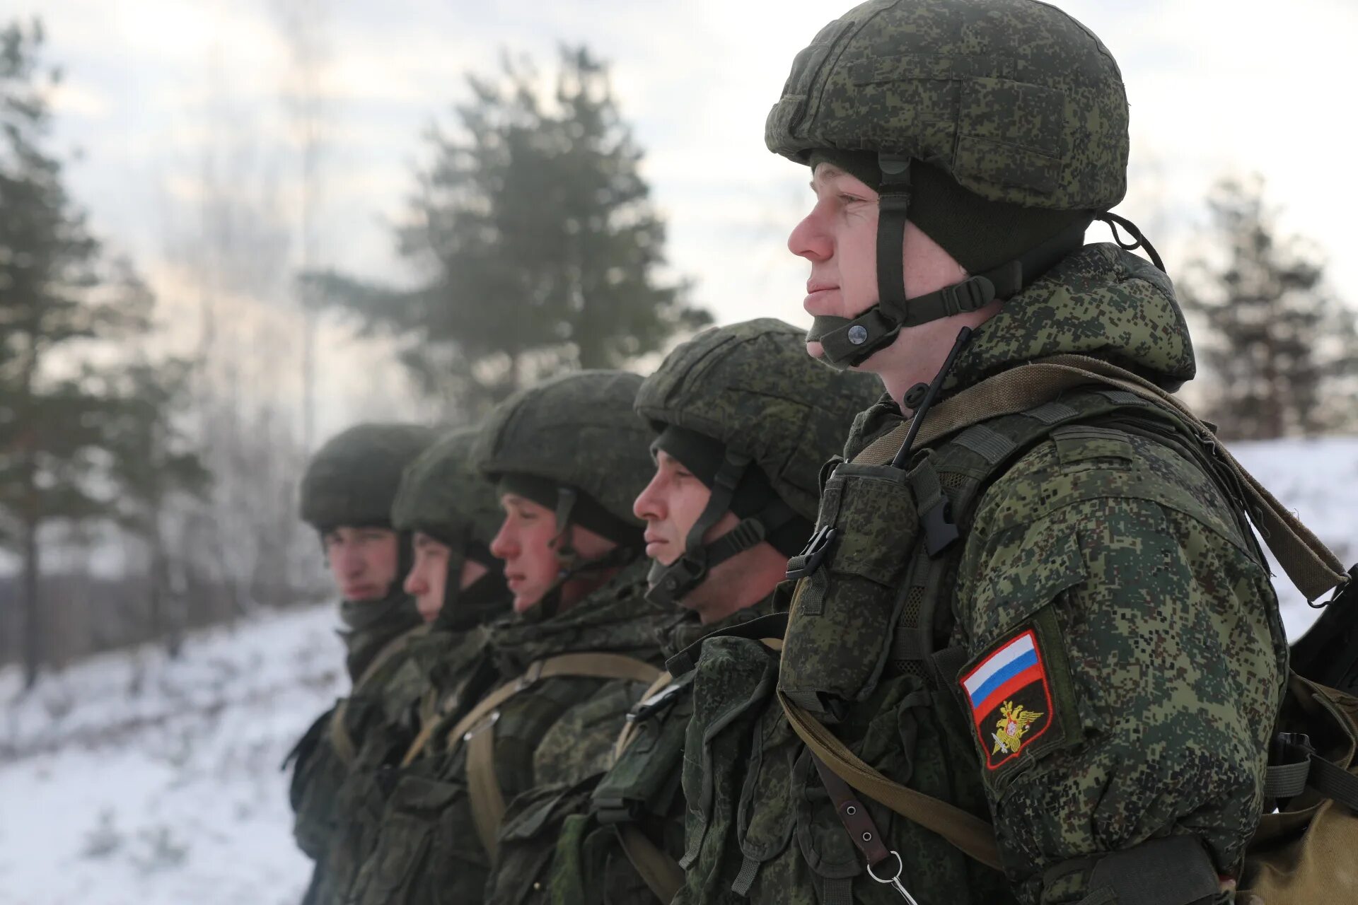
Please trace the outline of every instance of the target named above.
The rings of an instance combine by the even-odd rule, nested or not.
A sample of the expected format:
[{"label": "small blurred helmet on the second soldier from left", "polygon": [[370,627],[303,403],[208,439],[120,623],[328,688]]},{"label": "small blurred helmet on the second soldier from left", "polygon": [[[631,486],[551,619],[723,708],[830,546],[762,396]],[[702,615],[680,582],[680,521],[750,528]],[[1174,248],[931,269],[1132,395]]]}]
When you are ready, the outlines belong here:
[{"label": "small blurred helmet on the second soldier from left", "polygon": [[494,486],[473,461],[477,434],[475,427],[449,431],[410,463],[391,503],[392,528],[455,548],[490,545],[504,513]]}]

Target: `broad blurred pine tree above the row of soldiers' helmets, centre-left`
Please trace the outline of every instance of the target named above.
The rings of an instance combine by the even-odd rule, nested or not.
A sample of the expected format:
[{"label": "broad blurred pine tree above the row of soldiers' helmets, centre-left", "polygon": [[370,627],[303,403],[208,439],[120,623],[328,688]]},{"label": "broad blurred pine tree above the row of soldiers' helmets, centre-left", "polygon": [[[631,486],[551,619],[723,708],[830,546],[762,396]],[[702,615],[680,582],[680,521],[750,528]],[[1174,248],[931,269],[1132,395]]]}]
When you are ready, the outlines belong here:
[{"label": "broad blurred pine tree above the row of soldiers' helmets, centre-left", "polygon": [[433,161],[397,229],[418,288],[315,277],[326,297],[398,336],[417,383],[466,412],[710,320],[657,275],[665,227],[604,64],[562,49],[551,96],[508,60],[498,80],[467,84],[458,130],[428,136]]}]

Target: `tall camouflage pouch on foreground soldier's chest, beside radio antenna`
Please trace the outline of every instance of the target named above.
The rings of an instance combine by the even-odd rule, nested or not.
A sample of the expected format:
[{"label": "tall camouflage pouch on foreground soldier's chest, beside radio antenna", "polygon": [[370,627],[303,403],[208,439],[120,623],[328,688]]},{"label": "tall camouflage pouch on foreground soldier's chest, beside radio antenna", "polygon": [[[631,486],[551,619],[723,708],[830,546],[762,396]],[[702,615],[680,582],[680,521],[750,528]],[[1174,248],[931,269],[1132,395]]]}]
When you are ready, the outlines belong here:
[{"label": "tall camouflage pouch on foreground soldier's chest, beside radio antenna", "polygon": [[841,701],[873,692],[891,651],[919,533],[911,474],[841,464],[826,480],[816,524],[822,547],[788,563],[789,575],[807,574],[792,600],[778,688],[835,722]]}]

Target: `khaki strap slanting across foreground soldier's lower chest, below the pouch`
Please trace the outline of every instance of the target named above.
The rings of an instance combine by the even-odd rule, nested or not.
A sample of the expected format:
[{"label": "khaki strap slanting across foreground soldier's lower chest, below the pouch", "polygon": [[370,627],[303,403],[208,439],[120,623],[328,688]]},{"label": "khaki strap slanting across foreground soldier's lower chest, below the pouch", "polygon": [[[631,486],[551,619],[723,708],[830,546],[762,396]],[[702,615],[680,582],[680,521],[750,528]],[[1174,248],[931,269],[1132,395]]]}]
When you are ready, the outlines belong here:
[{"label": "khaki strap slanting across foreground soldier's lower chest, below the pouch", "polygon": [[815,716],[797,707],[779,691],[778,703],[788,715],[793,731],[801,737],[811,752],[824,761],[837,776],[868,798],[885,805],[909,821],[938,833],[982,864],[1004,870],[999,864],[999,848],[995,845],[995,830],[986,821],[968,814],[933,795],[907,788],[895,783],[865,764],[857,754],[820,725]]}]

